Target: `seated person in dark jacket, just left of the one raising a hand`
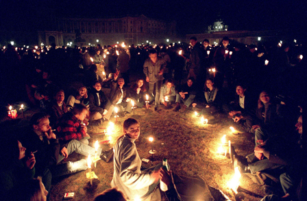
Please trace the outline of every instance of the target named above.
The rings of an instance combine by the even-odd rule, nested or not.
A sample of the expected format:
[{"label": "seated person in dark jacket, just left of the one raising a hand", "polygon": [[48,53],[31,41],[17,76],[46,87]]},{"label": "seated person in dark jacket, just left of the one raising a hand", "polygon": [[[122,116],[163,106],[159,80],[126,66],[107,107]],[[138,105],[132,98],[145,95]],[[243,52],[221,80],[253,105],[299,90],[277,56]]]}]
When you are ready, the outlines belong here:
[{"label": "seated person in dark jacket, just left of the one raising a hand", "polygon": [[95,81],[92,93],[88,96],[90,100],[90,121],[99,120],[99,124],[103,120],[109,120],[112,115],[114,106],[111,105],[109,98],[101,91],[101,83]]}]

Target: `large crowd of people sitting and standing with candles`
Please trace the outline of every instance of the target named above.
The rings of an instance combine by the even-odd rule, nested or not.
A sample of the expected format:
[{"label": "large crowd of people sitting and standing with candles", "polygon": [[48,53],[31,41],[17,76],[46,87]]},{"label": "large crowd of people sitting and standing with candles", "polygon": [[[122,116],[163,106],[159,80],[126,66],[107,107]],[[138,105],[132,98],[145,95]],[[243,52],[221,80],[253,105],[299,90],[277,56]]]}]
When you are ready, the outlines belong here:
[{"label": "large crowd of people sitting and standing with candles", "polygon": [[[0,51],[1,64],[7,67],[1,76],[16,73],[19,85],[25,87],[21,90],[12,84],[4,96],[10,97],[10,88],[25,91],[21,94],[40,108],[18,140],[1,140],[3,152],[14,149],[5,152],[12,156],[1,155],[1,161],[12,160],[10,167],[1,163],[1,196],[10,200],[16,196],[16,189],[23,189],[21,192],[26,192],[29,199],[48,199],[46,192],[52,178],[87,169],[86,160],[63,163],[65,158],[72,152],[95,155],[86,126],[103,124],[114,114],[123,118],[133,107],[154,107],[154,111],[191,109],[206,115],[230,116],[255,142],[254,153],[245,160],[235,156],[239,170],[256,176],[261,185],[281,184],[283,191],[278,198],[264,199],[295,200],[303,171],[304,96],[299,80],[304,77],[297,72],[305,71],[299,47],[271,42],[247,46],[227,37],[220,46],[212,46],[208,40],[199,43],[195,37],[190,38],[190,44],[97,45],[82,49],[8,45]],[[3,82],[10,83],[10,79],[5,76]],[[78,85],[71,88],[68,83],[74,81]],[[65,94],[69,94],[67,99]],[[299,135],[293,135],[294,125]],[[108,193],[122,197],[119,200],[158,199],[160,180],[169,185],[169,200],[182,200],[176,189],[178,178],[181,183],[193,179],[202,182],[200,178],[183,179],[159,165],[142,170],[134,144],[140,135],[138,121],[128,118],[123,131],[114,146],[111,183],[123,193],[111,189],[95,200]],[[113,157],[113,150],[99,149],[98,153],[106,162]],[[278,193],[278,188],[273,190]]]}]

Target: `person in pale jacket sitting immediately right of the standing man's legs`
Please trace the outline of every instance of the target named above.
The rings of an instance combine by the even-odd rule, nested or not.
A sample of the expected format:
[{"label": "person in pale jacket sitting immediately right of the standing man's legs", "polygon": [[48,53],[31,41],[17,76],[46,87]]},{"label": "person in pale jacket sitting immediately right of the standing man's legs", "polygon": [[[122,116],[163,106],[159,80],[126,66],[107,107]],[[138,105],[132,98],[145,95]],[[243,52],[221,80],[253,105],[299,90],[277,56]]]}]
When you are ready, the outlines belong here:
[{"label": "person in pale jacket sitting immediately right of the standing man's legs", "polygon": [[175,103],[176,91],[172,79],[167,79],[160,90],[160,103],[167,107],[167,103]]}]

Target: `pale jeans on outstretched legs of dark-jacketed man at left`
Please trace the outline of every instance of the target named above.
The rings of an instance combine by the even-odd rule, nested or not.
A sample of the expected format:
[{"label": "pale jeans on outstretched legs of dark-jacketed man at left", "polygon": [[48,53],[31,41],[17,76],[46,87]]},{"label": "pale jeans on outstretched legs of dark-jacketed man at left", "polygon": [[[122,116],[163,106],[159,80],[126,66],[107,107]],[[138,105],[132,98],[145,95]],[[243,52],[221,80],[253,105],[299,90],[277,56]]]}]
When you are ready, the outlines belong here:
[{"label": "pale jeans on outstretched legs of dark-jacketed man at left", "polygon": [[[95,156],[95,148],[83,144],[76,139],[71,140],[69,144],[67,144],[67,152],[70,155],[72,152],[77,152],[79,155],[84,155],[88,157],[88,155]],[[101,148],[97,150],[97,155],[101,155]],[[65,157],[63,155],[59,155],[58,163],[60,163]],[[67,162],[55,165],[51,167],[51,172],[53,177],[63,176],[66,174],[73,174],[75,172],[80,172],[82,170],[88,169],[87,161],[85,159],[81,159],[75,162]]]}]

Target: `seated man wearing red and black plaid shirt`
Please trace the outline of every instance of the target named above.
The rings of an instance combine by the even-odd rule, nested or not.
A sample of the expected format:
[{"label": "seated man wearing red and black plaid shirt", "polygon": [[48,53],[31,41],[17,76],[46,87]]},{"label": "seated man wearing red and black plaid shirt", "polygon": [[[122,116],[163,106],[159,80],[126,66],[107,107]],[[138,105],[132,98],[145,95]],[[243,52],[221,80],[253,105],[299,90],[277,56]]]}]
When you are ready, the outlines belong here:
[{"label": "seated man wearing red and black plaid shirt", "polygon": [[64,113],[62,118],[56,122],[56,132],[58,139],[64,143],[69,143],[72,139],[77,139],[79,142],[88,144],[90,135],[86,132],[88,129],[81,122],[86,118],[88,110],[86,106],[75,104],[70,112]]}]

